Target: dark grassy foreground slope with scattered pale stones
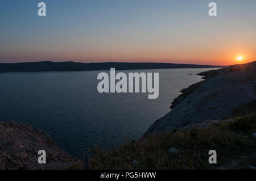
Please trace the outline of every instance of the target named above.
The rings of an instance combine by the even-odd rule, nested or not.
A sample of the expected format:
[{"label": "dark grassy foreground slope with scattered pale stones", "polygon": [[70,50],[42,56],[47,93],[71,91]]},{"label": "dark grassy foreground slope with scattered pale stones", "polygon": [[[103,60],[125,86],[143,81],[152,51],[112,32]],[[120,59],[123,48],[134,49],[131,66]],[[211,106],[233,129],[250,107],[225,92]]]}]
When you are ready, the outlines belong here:
[{"label": "dark grassy foreground slope with scattered pale stones", "polygon": [[[234,121],[211,123],[189,132],[172,131],[131,141],[118,149],[92,150],[92,169],[237,169],[255,166],[256,110]],[[179,149],[178,154],[168,149]],[[217,151],[217,164],[208,163],[208,151]],[[137,165],[132,162],[138,161]]]}]

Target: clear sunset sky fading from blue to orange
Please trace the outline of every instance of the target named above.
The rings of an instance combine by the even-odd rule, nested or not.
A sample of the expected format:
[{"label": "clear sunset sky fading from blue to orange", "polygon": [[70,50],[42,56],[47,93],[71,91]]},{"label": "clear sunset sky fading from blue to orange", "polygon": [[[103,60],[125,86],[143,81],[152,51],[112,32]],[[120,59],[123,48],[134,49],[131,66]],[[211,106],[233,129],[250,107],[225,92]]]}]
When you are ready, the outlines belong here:
[{"label": "clear sunset sky fading from blue to orange", "polygon": [[[217,16],[208,15],[210,2]],[[256,60],[255,0],[1,0],[0,23],[6,63]]]}]

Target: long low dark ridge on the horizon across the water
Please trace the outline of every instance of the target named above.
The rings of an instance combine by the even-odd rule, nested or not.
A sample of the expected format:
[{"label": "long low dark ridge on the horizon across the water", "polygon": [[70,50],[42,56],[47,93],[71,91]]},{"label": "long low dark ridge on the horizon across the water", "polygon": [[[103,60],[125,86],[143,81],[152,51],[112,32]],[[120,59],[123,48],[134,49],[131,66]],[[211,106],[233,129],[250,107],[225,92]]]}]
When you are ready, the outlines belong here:
[{"label": "long low dark ridge on the horizon across the water", "polygon": [[177,69],[177,68],[222,68],[217,65],[195,65],[195,64],[169,64],[169,63],[128,63],[128,62],[22,62],[14,64],[0,63],[0,73],[11,71],[86,71],[86,70],[116,70],[129,69]]}]

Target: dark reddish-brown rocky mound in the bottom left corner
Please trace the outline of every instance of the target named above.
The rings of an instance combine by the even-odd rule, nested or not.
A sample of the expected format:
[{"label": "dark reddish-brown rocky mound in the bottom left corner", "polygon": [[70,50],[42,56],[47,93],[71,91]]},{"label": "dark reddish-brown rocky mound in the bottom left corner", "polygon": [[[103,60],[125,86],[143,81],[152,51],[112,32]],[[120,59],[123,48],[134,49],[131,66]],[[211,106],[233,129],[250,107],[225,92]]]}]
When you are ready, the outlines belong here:
[{"label": "dark reddish-brown rocky mound in the bottom left corner", "polygon": [[[38,151],[46,151],[46,164]],[[55,144],[47,133],[31,125],[0,121],[0,169],[81,169],[83,163]]]}]

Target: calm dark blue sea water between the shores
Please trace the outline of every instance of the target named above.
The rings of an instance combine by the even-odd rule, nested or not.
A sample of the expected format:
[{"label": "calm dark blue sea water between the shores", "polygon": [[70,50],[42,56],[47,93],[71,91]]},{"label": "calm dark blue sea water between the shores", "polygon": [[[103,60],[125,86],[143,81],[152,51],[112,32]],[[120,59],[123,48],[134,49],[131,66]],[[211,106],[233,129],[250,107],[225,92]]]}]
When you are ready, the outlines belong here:
[{"label": "calm dark blue sea water between the shores", "polygon": [[147,93],[100,94],[101,71],[0,73],[0,120],[40,128],[80,157],[100,143],[108,149],[139,138],[170,111],[181,89],[201,81],[195,74],[210,69],[123,71],[159,72],[158,99],[148,99]]}]

